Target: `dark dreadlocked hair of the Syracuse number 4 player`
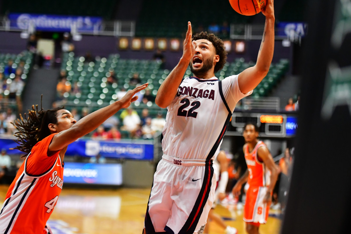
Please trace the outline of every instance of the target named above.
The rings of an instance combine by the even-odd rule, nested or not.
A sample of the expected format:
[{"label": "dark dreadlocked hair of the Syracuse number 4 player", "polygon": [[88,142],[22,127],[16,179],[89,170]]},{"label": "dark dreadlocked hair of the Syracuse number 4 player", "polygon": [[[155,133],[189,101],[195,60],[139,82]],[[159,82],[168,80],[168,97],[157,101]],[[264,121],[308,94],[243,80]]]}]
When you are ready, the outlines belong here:
[{"label": "dark dreadlocked hair of the Syracuse number 4 player", "polygon": [[[49,123],[57,123],[57,111],[65,107],[58,107],[53,110],[46,110],[38,105],[32,106],[32,110],[28,110],[28,116],[24,114],[24,118],[20,114],[20,119],[15,120],[12,125],[18,132],[15,132],[15,140],[19,145],[12,149],[18,149],[29,154],[36,143],[51,134],[48,128]],[[26,156],[26,155],[23,155]]]}]

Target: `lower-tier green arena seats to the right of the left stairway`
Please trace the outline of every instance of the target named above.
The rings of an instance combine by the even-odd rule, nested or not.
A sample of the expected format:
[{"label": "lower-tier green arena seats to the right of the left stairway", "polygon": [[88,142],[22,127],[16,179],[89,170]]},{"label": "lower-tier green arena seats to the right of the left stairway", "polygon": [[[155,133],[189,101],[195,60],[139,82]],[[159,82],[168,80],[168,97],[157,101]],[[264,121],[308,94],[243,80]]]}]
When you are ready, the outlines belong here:
[{"label": "lower-tier green arena seats to the right of the left stairway", "polygon": [[[81,93],[65,93],[67,99],[66,106],[72,106],[80,111],[84,106],[90,107],[95,111],[109,103],[117,100],[117,93],[122,89],[131,89],[135,86],[129,84],[135,72],[139,73],[141,83],[149,82],[149,89],[155,96],[161,83],[170,73],[169,70],[160,69],[159,63],[152,60],[121,59],[119,54],[111,54],[108,58],[95,58],[95,62],[86,63],[84,57],[74,56],[73,52],[64,55],[61,69],[67,71],[67,80],[72,86],[75,82],[81,89]],[[226,76],[239,74],[244,69],[253,66],[252,61],[245,62],[244,58],[237,58],[231,63],[226,63],[223,70],[216,75],[220,80]],[[263,81],[254,89],[251,97],[266,96],[286,73],[289,68],[289,61],[282,59],[276,64],[272,64],[269,73]],[[117,83],[108,84],[107,76],[115,71]],[[187,69],[185,77],[191,75],[190,68]],[[155,103],[144,104],[136,102],[132,105],[141,113],[143,108],[149,108],[151,116],[157,112],[166,113],[166,109],[161,109]]]}]

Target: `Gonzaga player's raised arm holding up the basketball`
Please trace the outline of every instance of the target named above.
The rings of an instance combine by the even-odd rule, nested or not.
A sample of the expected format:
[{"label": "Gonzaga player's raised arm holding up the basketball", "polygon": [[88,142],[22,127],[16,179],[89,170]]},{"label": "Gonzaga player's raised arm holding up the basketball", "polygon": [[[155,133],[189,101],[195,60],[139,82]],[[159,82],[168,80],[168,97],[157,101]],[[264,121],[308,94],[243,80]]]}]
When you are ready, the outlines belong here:
[{"label": "Gonzaga player's raised arm holding up the basketball", "polygon": [[257,56],[257,63],[239,74],[238,84],[242,93],[247,93],[256,88],[267,75],[273,58],[274,51],[274,6],[273,0],[267,0],[266,8],[262,10],[266,16],[261,46]]}]

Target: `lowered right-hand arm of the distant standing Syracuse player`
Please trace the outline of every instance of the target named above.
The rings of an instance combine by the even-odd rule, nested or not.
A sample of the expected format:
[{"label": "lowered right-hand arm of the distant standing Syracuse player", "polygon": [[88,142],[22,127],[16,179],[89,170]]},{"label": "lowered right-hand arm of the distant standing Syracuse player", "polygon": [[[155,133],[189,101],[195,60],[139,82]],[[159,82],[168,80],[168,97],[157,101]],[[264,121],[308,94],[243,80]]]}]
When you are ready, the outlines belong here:
[{"label": "lowered right-hand arm of the distant standing Syracuse player", "polygon": [[267,189],[267,194],[264,198],[264,202],[269,202],[272,200],[271,192],[276,185],[279,169],[277,165],[274,163],[271,153],[266,147],[258,148],[257,155],[263,160],[264,165],[270,170],[271,172],[271,183]]}]

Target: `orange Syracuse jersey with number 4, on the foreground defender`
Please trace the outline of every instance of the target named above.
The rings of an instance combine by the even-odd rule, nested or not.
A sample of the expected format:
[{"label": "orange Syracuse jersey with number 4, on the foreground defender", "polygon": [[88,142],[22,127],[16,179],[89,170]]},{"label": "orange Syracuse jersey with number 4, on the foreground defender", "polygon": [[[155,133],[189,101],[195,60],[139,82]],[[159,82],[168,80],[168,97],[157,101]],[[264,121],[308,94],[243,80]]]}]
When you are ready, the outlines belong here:
[{"label": "orange Syracuse jersey with number 4, on the foreground defender", "polygon": [[55,134],[47,136],[32,148],[10,185],[0,211],[1,234],[45,233],[46,221],[63,184],[64,168],[60,151],[52,156],[47,155]]}]

